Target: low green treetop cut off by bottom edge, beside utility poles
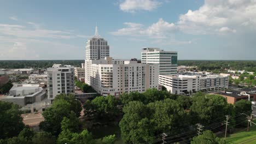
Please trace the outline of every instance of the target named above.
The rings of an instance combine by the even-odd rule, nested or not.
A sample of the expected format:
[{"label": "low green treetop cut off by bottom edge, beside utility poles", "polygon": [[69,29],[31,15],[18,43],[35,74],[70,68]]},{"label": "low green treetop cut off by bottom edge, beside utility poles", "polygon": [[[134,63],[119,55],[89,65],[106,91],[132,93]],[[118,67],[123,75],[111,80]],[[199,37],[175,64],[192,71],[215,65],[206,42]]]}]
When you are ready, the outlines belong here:
[{"label": "low green treetop cut off by bottom edge, beside utility poles", "polygon": [[191,144],[205,144],[205,143],[219,143],[219,144],[225,144],[225,140],[220,139],[217,137],[211,130],[203,131],[202,135],[196,136],[191,141]]}]

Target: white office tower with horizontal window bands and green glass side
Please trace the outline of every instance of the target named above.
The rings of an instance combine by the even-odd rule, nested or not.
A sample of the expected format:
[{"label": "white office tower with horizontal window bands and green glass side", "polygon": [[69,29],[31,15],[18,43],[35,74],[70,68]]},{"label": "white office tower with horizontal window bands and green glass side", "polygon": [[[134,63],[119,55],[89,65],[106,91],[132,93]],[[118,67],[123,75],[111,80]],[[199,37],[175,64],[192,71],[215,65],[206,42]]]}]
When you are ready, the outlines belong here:
[{"label": "white office tower with horizontal window bands and green glass side", "polygon": [[177,52],[164,51],[159,48],[143,48],[141,52],[141,62],[148,64],[159,64],[160,75],[177,74]]}]

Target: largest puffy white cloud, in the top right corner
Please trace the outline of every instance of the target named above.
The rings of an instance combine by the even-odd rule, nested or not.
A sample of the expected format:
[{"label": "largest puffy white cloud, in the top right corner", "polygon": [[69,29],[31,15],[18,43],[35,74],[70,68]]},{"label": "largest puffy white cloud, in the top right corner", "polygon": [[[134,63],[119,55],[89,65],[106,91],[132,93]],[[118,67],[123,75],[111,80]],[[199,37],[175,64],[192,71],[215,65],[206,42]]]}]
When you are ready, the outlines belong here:
[{"label": "largest puffy white cloud, in the top right corner", "polygon": [[181,15],[177,23],[183,32],[190,34],[234,33],[255,26],[255,14],[255,0],[205,0],[198,10]]}]

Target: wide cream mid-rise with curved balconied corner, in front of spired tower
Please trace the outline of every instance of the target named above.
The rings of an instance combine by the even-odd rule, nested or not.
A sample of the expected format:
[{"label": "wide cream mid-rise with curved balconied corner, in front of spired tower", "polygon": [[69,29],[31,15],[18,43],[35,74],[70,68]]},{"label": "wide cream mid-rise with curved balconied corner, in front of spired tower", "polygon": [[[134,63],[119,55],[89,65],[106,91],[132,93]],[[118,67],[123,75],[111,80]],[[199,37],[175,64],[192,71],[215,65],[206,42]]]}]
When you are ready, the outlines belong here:
[{"label": "wide cream mid-rise with curved balconied corner, in front of spired tower", "polygon": [[143,64],[136,61],[112,59],[85,60],[85,83],[101,95],[144,92],[157,88],[158,64]]}]

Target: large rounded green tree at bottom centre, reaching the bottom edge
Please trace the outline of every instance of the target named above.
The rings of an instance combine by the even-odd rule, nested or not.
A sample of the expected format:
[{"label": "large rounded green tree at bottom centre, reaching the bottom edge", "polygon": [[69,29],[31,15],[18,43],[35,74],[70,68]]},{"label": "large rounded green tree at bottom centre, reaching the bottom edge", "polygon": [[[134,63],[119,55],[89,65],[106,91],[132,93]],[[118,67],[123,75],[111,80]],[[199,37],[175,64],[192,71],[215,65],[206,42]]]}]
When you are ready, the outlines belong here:
[{"label": "large rounded green tree at bottom centre, reaching the bottom edge", "polygon": [[122,140],[126,143],[152,142],[154,131],[148,119],[151,113],[147,106],[140,101],[130,101],[123,112],[125,115],[119,123]]}]

